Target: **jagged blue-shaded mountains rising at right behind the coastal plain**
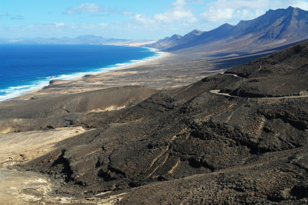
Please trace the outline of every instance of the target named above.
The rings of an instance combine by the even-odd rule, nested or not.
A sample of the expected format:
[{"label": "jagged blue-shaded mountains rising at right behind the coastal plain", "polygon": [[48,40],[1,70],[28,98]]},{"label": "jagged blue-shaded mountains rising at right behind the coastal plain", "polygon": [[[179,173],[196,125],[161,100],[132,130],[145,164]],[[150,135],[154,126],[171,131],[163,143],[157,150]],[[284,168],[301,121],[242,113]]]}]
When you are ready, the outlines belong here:
[{"label": "jagged blue-shaded mountains rising at right behind the coastal plain", "polygon": [[177,34],[146,46],[175,51],[261,51],[308,39],[308,12],[299,8],[269,10],[253,20],[238,25],[224,24],[211,31],[194,30],[185,36]]}]

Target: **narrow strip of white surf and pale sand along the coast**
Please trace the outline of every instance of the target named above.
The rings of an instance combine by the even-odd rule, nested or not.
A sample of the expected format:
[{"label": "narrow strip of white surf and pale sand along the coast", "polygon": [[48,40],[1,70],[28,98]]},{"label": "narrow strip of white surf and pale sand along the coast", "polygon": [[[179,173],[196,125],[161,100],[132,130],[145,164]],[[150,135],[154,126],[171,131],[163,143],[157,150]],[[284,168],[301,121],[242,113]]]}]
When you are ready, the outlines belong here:
[{"label": "narrow strip of white surf and pale sand along the coast", "polygon": [[[153,53],[156,53],[156,54],[151,56],[151,57],[146,57],[144,59],[128,61],[127,63],[125,63],[125,64],[128,64],[128,65],[125,65],[125,66],[116,67],[117,64],[114,64],[114,65],[110,65],[112,67],[110,67],[109,70],[107,70],[108,68],[105,68],[106,70],[101,70],[101,71],[93,72],[93,74],[92,74],[92,72],[88,72],[88,73],[87,72],[82,72],[82,73],[86,73],[86,74],[83,74],[83,76],[79,76],[79,77],[73,77],[71,79],[70,78],[68,78],[68,79],[50,79],[49,82],[53,81],[53,80],[55,80],[55,81],[62,81],[62,82],[65,82],[65,81],[78,81],[80,79],[83,79],[88,74],[91,75],[91,76],[98,76],[100,74],[104,74],[104,73],[110,72],[112,70],[123,70],[123,69],[127,69],[127,68],[134,68],[134,67],[140,66],[140,65],[144,66],[149,61],[155,61],[156,59],[162,59],[163,57],[167,56],[166,52],[159,51],[158,49],[149,48],[149,47],[144,47],[144,48],[149,49],[149,51],[146,51],[146,52],[153,52]],[[156,56],[159,53],[160,53],[160,55]],[[103,69],[103,68],[101,68],[101,69]],[[40,90],[43,90],[44,87],[47,87],[47,86],[49,86],[51,84],[49,82],[44,83],[44,84],[46,84],[45,86],[42,85],[42,87],[35,88],[34,90],[20,92],[21,94],[18,94],[16,96],[14,96],[14,94],[12,94],[12,97],[6,98],[4,100],[0,100],[0,103],[7,102],[7,101],[10,101],[10,100],[26,100],[25,99],[25,98],[27,98],[26,96],[33,95],[33,94],[36,94],[37,92],[40,92]],[[31,86],[31,85],[29,85],[29,86]]]}]

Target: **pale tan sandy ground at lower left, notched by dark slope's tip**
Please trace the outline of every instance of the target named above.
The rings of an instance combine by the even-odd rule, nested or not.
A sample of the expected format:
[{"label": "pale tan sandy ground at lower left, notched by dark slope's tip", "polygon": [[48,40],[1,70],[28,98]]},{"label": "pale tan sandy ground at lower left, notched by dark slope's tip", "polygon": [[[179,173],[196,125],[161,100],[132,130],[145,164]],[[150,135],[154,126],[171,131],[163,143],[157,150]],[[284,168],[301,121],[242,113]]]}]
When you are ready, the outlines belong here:
[{"label": "pale tan sandy ground at lower left, notched by dark slope's tip", "polygon": [[0,134],[0,204],[114,204],[121,200],[125,193],[106,197],[60,197],[53,194],[57,184],[53,184],[49,176],[12,169],[16,163],[50,152],[57,141],[85,132],[82,127],[73,127]]}]

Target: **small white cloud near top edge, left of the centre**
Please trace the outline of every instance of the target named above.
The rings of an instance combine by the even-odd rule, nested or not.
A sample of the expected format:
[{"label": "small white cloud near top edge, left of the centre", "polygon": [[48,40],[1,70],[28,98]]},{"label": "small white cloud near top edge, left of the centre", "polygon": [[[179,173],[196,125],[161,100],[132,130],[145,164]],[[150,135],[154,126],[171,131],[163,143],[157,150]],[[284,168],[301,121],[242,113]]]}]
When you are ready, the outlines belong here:
[{"label": "small white cloud near top edge, left of the centre", "polygon": [[69,7],[66,9],[66,12],[63,14],[81,14],[81,12],[89,12],[89,13],[96,13],[96,12],[107,12],[108,8],[103,8],[102,5],[98,3],[82,3],[77,7]]}]

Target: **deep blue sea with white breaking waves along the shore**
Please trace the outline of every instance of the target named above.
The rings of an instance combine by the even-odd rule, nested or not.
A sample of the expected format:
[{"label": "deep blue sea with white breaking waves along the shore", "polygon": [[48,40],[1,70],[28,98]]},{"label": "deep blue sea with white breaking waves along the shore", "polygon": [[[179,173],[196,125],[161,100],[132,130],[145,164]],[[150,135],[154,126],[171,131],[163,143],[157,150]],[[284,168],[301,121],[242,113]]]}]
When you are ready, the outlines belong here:
[{"label": "deep blue sea with white breaking waves along the shore", "polygon": [[96,74],[162,55],[127,46],[0,44],[0,101],[46,86],[52,79]]}]

